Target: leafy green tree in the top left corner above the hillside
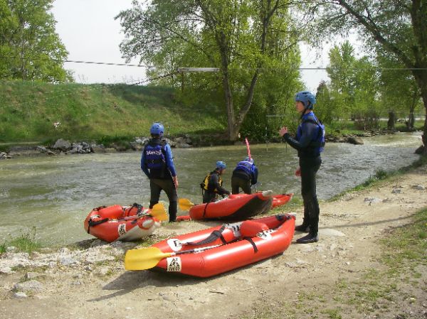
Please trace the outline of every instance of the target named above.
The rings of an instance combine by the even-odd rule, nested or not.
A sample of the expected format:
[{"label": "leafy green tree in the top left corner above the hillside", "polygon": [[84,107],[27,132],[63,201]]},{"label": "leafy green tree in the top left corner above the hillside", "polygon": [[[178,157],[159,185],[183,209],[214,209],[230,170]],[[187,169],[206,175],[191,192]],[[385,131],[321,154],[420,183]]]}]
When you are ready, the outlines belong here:
[{"label": "leafy green tree in the top left corner above the hillside", "polygon": [[48,11],[53,0],[0,0],[0,77],[70,81],[63,68],[68,56]]}]

